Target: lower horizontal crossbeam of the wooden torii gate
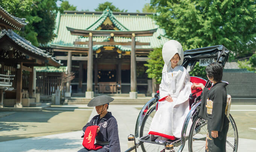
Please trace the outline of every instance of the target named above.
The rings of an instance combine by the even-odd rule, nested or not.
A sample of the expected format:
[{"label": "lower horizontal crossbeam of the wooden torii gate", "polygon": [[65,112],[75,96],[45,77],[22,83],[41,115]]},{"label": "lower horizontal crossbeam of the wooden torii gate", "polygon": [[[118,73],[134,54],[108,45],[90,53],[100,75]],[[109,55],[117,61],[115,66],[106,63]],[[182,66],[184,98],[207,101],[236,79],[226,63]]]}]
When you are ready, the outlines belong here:
[{"label": "lower horizontal crossbeam of the wooden torii gate", "polygon": [[[75,41],[74,45],[88,45],[89,42],[85,41],[85,42],[78,42]],[[93,41],[93,45],[131,45],[131,42],[96,42]],[[135,42],[135,45],[150,45],[150,42]]]}]

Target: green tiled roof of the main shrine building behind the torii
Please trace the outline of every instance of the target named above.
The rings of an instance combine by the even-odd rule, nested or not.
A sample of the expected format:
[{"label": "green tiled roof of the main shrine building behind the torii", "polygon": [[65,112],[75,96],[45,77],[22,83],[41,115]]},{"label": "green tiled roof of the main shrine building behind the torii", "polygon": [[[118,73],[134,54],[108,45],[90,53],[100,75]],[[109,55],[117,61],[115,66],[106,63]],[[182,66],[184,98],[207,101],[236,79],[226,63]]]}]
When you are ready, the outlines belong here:
[{"label": "green tiled roof of the main shrine building behind the torii", "polygon": [[[106,10],[105,10],[106,11]],[[160,29],[154,20],[151,17],[146,15],[129,15],[129,14],[112,14],[112,11],[102,12],[101,15],[93,14],[86,12],[84,14],[81,13],[72,13],[72,14],[59,14],[56,18],[56,38],[50,43],[53,45],[61,45],[68,47],[85,47],[88,48],[88,45],[73,45],[74,41],[88,41],[88,38],[81,38],[81,36],[71,35],[67,30],[67,27],[71,27],[74,29],[90,29],[94,30],[98,28],[105,18],[110,17],[110,20],[113,24],[119,28],[120,30],[131,30],[131,31],[139,31],[139,30],[151,30],[157,29],[157,32],[153,34],[153,36],[142,36],[136,37],[137,42],[150,42],[150,45],[136,45],[136,48],[143,49],[152,49],[161,47],[168,38],[161,36],[158,39],[158,36],[165,35],[165,30]],[[93,41],[102,42],[108,41],[107,37],[93,37]],[[116,42],[131,42],[130,38],[116,37],[114,36],[114,41]],[[93,50],[97,50],[102,47],[102,45],[94,45]],[[122,51],[130,51],[131,46],[116,46]]]}]

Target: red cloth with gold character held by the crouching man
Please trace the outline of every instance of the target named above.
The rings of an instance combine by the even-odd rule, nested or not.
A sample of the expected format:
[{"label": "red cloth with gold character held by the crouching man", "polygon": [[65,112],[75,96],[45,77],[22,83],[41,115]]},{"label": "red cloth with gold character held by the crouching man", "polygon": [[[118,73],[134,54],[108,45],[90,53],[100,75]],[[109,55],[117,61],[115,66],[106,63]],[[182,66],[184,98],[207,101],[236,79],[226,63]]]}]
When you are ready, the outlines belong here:
[{"label": "red cloth with gold character held by the crouching man", "polygon": [[88,126],[84,132],[83,146],[89,150],[98,150],[102,146],[94,144],[95,137],[97,135],[97,129],[99,126]]}]

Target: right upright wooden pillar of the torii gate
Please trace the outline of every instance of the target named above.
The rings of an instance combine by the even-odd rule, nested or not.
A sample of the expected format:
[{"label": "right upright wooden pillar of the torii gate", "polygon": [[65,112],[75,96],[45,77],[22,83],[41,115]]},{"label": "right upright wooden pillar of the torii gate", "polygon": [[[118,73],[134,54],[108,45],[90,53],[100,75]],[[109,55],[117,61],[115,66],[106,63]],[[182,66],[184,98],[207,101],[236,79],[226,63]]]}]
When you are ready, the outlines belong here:
[{"label": "right upright wooden pillar of the torii gate", "polygon": [[131,92],[136,92],[136,54],[135,54],[135,34],[131,36]]}]

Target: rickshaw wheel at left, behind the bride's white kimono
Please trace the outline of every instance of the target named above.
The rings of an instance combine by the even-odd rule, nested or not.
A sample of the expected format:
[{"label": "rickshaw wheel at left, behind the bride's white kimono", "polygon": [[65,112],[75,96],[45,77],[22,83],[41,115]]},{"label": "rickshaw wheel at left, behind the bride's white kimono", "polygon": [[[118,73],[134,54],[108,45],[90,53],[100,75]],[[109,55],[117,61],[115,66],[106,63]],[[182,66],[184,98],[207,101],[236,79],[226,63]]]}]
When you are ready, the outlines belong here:
[{"label": "rickshaw wheel at left, behind the bride's white kimono", "polygon": [[[140,126],[140,137],[147,135],[149,131],[150,124],[152,122],[152,119],[155,115],[155,106],[152,107],[150,110],[148,110],[147,114],[143,118],[142,125]],[[165,149],[165,146],[160,144],[154,144],[154,143],[146,143],[140,145],[143,152],[160,152],[161,150]],[[178,152],[178,147],[174,147],[175,152]]]}]

